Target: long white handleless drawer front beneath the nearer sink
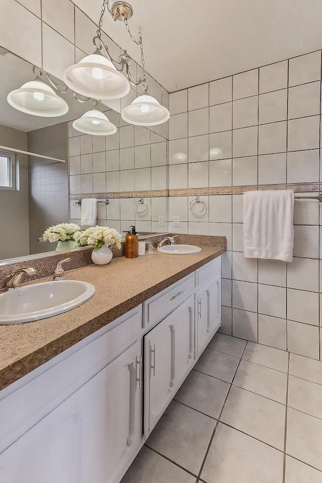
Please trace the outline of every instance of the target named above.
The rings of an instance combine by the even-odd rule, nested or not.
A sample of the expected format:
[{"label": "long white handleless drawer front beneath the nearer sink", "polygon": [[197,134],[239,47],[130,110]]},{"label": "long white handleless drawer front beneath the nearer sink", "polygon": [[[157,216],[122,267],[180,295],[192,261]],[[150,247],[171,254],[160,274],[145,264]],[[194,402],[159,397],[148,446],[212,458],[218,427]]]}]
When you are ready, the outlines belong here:
[{"label": "long white handleless drawer front beneath the nearer sink", "polygon": [[129,347],[142,330],[142,305],[112,322],[109,332],[108,326],[97,331],[96,339],[93,334],[79,342],[83,346],[69,357],[56,356],[50,361],[55,365],[40,375],[36,369],[34,379],[28,374],[28,382],[7,397],[1,399],[0,393],[0,452]]}]

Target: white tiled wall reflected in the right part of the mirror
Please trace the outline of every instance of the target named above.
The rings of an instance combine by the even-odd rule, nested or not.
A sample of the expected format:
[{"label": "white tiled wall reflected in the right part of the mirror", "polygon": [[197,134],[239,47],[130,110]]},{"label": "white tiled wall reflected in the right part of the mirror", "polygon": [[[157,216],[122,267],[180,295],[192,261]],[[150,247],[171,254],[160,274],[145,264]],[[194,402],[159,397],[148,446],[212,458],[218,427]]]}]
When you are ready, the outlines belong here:
[{"label": "white tiled wall reflected in the right part of the mirror", "polygon": [[[106,114],[119,125],[118,114],[113,111]],[[72,128],[70,122],[70,194],[97,194],[102,197],[109,192],[166,190],[167,146],[165,138],[141,126],[122,125],[115,134],[104,137],[81,134]],[[167,230],[167,198],[146,196],[147,207],[138,204],[138,211],[142,213],[136,213],[134,203],[139,200],[120,195],[109,198],[108,206],[99,204],[98,223],[118,231],[128,230],[132,224],[137,231]],[[70,208],[72,221],[78,222],[80,210],[73,203]],[[159,226],[159,216],[164,217],[164,226]]]}]

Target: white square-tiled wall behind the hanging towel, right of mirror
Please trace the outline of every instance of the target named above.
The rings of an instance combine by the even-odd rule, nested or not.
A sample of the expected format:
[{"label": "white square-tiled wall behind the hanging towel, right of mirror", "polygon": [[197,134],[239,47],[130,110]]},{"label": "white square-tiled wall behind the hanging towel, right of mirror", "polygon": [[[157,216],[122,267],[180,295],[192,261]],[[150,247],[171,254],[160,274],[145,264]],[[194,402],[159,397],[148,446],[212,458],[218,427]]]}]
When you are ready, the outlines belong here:
[{"label": "white square-tiled wall behind the hanging towel, right of mirror", "polygon": [[[170,94],[170,189],[200,188],[207,206],[193,218],[193,196],[170,197],[170,227],[226,236],[221,332],[315,359],[322,354],[322,207],[295,202],[292,263],[245,259],[243,195],[231,188],[322,180],[320,90],[317,51]],[[203,196],[222,187],[230,194]]]}]

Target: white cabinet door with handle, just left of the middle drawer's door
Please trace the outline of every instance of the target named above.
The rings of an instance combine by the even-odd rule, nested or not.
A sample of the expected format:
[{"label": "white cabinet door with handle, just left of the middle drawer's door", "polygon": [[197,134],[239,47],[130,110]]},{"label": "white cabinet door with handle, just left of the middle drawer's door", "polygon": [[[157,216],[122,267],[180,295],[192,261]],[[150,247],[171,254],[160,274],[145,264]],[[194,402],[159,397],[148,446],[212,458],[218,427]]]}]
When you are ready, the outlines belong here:
[{"label": "white cabinet door with handle, just left of the middle drawer's door", "polygon": [[141,341],[138,341],[89,381],[91,483],[119,481],[124,466],[140,444],[141,380]]}]

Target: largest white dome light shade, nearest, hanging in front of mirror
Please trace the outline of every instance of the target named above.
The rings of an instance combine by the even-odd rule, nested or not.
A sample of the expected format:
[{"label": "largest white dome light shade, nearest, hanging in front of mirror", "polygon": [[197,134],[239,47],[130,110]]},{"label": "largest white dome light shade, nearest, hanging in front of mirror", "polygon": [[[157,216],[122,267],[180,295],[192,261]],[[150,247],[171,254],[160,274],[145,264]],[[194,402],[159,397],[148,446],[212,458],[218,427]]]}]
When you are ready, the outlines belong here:
[{"label": "largest white dome light shade, nearest, hanging in front of mirror", "polygon": [[100,54],[88,55],[67,67],[63,81],[72,91],[93,99],[120,99],[130,91],[127,78]]}]

